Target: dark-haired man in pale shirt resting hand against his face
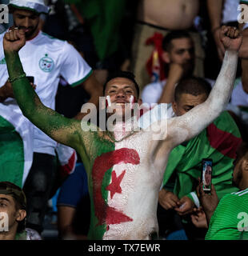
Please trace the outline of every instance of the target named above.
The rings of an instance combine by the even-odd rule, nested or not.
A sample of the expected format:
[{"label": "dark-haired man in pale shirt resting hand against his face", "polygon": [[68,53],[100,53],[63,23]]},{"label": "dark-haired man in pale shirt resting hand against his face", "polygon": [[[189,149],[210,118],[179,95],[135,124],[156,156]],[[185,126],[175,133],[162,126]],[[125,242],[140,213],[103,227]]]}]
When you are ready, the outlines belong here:
[{"label": "dark-haired man in pale shirt resting hand against his face", "polygon": [[174,30],[167,34],[162,40],[162,50],[166,79],[144,87],[142,101],[145,103],[172,102],[174,86],[182,78],[192,76],[194,71],[194,42],[185,30]]}]

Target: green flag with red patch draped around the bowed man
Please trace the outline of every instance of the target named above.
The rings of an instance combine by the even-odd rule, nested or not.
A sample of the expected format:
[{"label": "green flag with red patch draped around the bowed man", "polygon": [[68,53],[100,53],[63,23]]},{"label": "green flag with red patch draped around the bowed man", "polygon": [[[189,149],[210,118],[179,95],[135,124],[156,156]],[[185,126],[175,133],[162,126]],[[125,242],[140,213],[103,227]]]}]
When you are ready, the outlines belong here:
[{"label": "green flag with red patch draped around the bowed man", "polygon": [[237,191],[238,189],[232,186],[233,161],[241,142],[241,135],[234,119],[227,111],[222,112],[201,134],[171,151],[163,184],[165,185],[175,172],[177,178],[174,194],[182,198],[198,185],[202,158],[211,158],[213,160],[212,183],[218,198],[222,198],[226,193]]}]

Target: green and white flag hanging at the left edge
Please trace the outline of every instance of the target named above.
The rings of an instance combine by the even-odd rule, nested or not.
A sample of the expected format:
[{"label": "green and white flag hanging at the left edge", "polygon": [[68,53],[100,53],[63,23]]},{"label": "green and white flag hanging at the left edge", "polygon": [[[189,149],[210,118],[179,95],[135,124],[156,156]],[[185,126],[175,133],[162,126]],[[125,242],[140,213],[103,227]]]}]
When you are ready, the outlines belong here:
[{"label": "green and white flag hanging at the left edge", "polygon": [[[14,101],[14,100],[13,100]],[[0,104],[0,181],[22,187],[33,161],[33,126],[11,102]]]}]

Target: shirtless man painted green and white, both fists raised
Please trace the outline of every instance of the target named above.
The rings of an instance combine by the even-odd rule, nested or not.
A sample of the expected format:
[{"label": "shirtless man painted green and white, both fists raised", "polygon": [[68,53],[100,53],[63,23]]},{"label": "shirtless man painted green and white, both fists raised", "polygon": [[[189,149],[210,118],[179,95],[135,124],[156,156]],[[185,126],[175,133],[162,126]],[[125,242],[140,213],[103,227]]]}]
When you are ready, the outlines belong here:
[{"label": "shirtless man painted green and white, both fists raised", "polygon": [[[54,140],[81,155],[91,198],[89,239],[150,239],[158,234],[158,190],[170,150],[193,138],[224,110],[234,85],[242,38],[234,28],[222,28],[226,55],[217,82],[206,102],[177,118],[163,119],[161,140],[153,129],[134,131],[132,118],[115,122],[113,132],[86,131],[86,122],[64,118],[42,105],[22,70],[18,50],[25,44],[22,30],[5,34],[4,50],[14,96],[23,114]],[[111,78],[104,94],[114,114],[123,117],[138,100],[138,85],[130,74]],[[114,114],[108,114],[108,122]]]}]

